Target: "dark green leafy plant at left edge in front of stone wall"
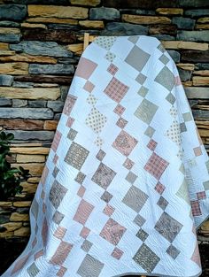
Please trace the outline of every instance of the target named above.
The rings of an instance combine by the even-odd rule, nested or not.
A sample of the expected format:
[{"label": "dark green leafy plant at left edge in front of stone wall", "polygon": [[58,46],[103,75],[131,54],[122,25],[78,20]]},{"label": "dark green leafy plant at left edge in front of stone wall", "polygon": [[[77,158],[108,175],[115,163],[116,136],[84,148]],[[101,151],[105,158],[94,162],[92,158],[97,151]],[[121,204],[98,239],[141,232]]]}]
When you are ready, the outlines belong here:
[{"label": "dark green leafy plant at left edge in front of stone wall", "polygon": [[22,166],[19,168],[12,167],[8,161],[10,152],[10,144],[14,135],[12,133],[0,133],[0,201],[6,201],[9,197],[21,193],[21,181],[27,181],[31,176],[29,170],[25,170]]}]

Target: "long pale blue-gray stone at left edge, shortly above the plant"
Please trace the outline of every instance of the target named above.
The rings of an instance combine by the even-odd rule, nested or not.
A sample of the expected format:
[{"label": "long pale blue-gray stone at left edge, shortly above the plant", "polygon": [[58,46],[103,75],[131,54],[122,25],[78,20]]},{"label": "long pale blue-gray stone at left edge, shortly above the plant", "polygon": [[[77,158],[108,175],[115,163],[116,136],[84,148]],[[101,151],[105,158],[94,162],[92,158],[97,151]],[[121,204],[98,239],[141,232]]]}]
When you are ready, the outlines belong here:
[{"label": "long pale blue-gray stone at left edge, shortly above the plant", "polygon": [[53,119],[54,113],[43,108],[0,108],[2,119]]}]

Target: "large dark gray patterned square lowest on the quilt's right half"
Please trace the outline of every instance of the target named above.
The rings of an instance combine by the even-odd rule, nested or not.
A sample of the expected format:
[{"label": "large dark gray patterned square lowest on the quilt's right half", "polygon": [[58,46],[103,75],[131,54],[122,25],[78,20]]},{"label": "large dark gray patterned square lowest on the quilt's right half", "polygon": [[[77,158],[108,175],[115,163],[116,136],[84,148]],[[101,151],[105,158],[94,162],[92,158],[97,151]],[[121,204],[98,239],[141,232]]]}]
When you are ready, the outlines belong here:
[{"label": "large dark gray patterned square lowest on the quilt's right half", "polygon": [[133,259],[138,265],[142,266],[147,273],[151,273],[160,260],[159,256],[157,256],[145,243],[137,250]]}]

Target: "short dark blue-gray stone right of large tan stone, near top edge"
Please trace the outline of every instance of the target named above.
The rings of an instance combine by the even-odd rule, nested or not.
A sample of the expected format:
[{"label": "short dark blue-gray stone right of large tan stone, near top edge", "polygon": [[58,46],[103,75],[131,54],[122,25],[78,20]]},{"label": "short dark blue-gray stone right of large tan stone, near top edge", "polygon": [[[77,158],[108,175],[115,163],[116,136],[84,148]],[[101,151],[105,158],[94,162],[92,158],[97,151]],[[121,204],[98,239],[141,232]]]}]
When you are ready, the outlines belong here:
[{"label": "short dark blue-gray stone right of large tan stone, near top edge", "polygon": [[120,12],[114,8],[91,8],[89,19],[120,19]]}]

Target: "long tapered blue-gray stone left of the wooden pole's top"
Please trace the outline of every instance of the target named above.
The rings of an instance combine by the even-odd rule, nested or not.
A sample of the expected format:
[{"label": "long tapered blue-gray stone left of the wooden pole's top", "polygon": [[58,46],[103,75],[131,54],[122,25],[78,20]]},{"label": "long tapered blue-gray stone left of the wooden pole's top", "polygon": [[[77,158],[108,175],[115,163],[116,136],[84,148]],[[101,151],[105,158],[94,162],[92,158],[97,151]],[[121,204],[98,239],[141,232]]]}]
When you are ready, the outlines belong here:
[{"label": "long tapered blue-gray stone left of the wooden pole's top", "polygon": [[72,52],[58,45],[57,42],[24,41],[10,45],[10,49],[18,52],[25,52],[30,55],[69,58],[73,56]]}]

